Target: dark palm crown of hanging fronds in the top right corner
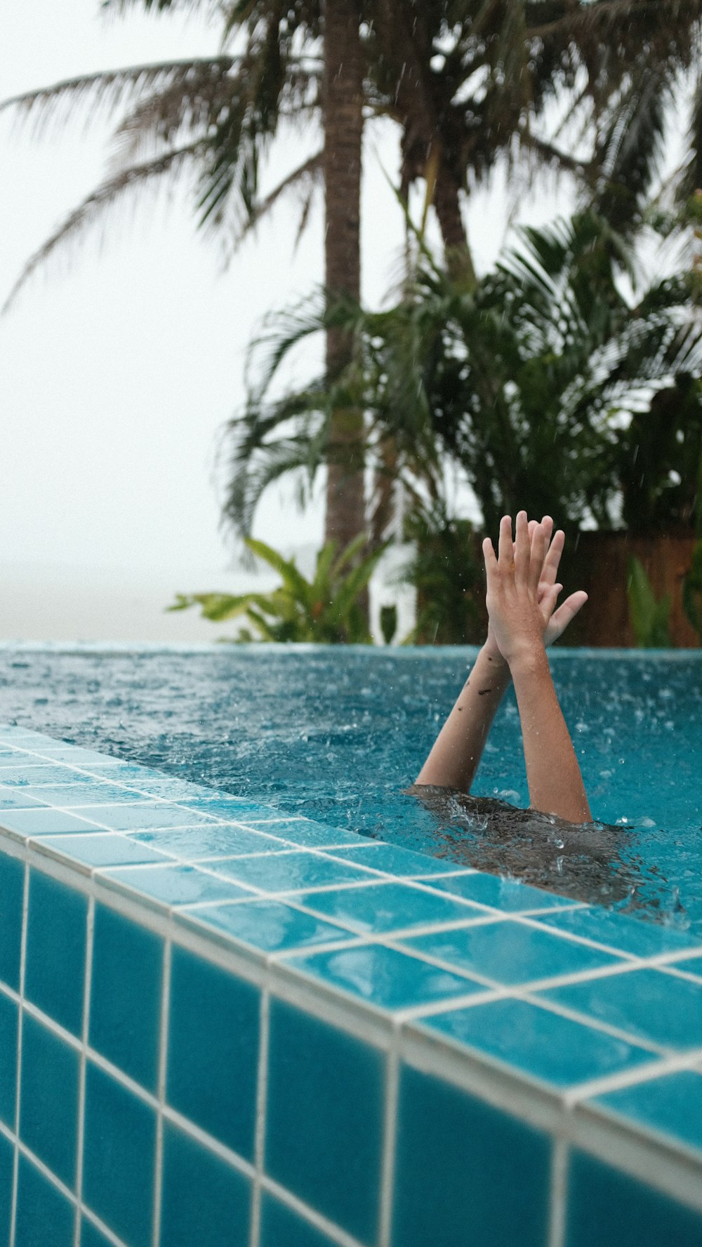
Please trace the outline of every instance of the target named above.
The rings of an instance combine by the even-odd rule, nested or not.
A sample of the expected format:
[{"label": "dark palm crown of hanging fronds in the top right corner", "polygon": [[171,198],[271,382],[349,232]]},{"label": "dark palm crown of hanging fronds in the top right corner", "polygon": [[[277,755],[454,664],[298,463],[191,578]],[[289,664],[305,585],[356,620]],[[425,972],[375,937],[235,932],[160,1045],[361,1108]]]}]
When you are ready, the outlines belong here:
[{"label": "dark palm crown of hanging fronds in the top right corner", "polygon": [[[369,101],[401,126],[400,186],[428,183],[449,268],[475,279],[461,201],[500,160],[575,175],[621,232],[660,168],[670,105],[697,71],[701,0],[380,0]],[[554,120],[555,115],[555,120]],[[687,160],[702,168],[702,77]],[[697,178],[697,181],[696,181]]]}]

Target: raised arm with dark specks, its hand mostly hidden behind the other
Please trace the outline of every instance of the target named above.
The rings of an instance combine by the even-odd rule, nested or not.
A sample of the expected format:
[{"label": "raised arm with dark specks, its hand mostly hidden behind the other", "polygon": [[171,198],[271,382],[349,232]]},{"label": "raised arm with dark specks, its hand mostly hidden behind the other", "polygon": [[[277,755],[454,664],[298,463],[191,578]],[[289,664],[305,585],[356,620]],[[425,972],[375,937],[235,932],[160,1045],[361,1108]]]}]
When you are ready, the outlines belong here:
[{"label": "raised arm with dark specks, its hand mostly hidden behind the other", "polygon": [[[537,599],[544,627],[544,642],[550,645],[577,614],[587,595],[572,594],[557,611],[554,610],[560,585],[556,586],[559,564],[565,536],[561,530],[551,532],[554,521],[546,515],[541,521],[545,555],[542,556],[539,579]],[[536,521],[527,527],[530,540],[536,531]],[[480,650],[471,672],[461,688],[458,700],[444,723],[426,762],[419,776],[418,784],[435,784],[444,788],[458,788],[470,792],[475,772],[488,733],[502,696],[511,681],[510,668],[496,643],[493,626],[488,628],[488,640]]]}]

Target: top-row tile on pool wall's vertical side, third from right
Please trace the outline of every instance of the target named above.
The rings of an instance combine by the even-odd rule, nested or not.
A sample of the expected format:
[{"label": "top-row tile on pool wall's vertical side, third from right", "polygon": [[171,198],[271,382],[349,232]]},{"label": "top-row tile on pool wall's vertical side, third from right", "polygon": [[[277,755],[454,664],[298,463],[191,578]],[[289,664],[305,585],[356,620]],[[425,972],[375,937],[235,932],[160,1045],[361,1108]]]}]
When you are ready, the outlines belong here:
[{"label": "top-row tile on pool wall's vertical side, third from right", "polygon": [[375,1241],[385,1057],[271,1001],[266,1172],[362,1242]]}]

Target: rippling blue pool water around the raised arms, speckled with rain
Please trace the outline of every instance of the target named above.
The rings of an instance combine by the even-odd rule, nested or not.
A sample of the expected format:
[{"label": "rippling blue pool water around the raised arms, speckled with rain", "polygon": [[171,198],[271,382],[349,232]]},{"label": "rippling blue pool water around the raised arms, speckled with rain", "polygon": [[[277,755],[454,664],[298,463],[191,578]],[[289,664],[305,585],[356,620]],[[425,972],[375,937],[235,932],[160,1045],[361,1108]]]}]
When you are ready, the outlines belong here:
[{"label": "rippling blue pool water around the raised arms, speckled with rain", "polygon": [[[511,692],[476,801],[405,789],[475,651],[0,651],[0,720],[702,932],[702,652],[552,651],[596,824],[527,806]],[[489,799],[480,799],[489,798]]]}]

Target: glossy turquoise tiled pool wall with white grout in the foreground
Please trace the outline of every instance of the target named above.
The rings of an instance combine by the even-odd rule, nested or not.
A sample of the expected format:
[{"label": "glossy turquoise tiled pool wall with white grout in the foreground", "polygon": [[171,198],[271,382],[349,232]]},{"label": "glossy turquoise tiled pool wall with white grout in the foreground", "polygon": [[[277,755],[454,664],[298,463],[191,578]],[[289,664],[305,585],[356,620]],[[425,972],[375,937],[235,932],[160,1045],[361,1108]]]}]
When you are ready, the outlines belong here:
[{"label": "glossy turquoise tiled pool wall with white grout in the foreground", "polygon": [[0,728],[0,1247],[667,1241],[685,932]]}]

